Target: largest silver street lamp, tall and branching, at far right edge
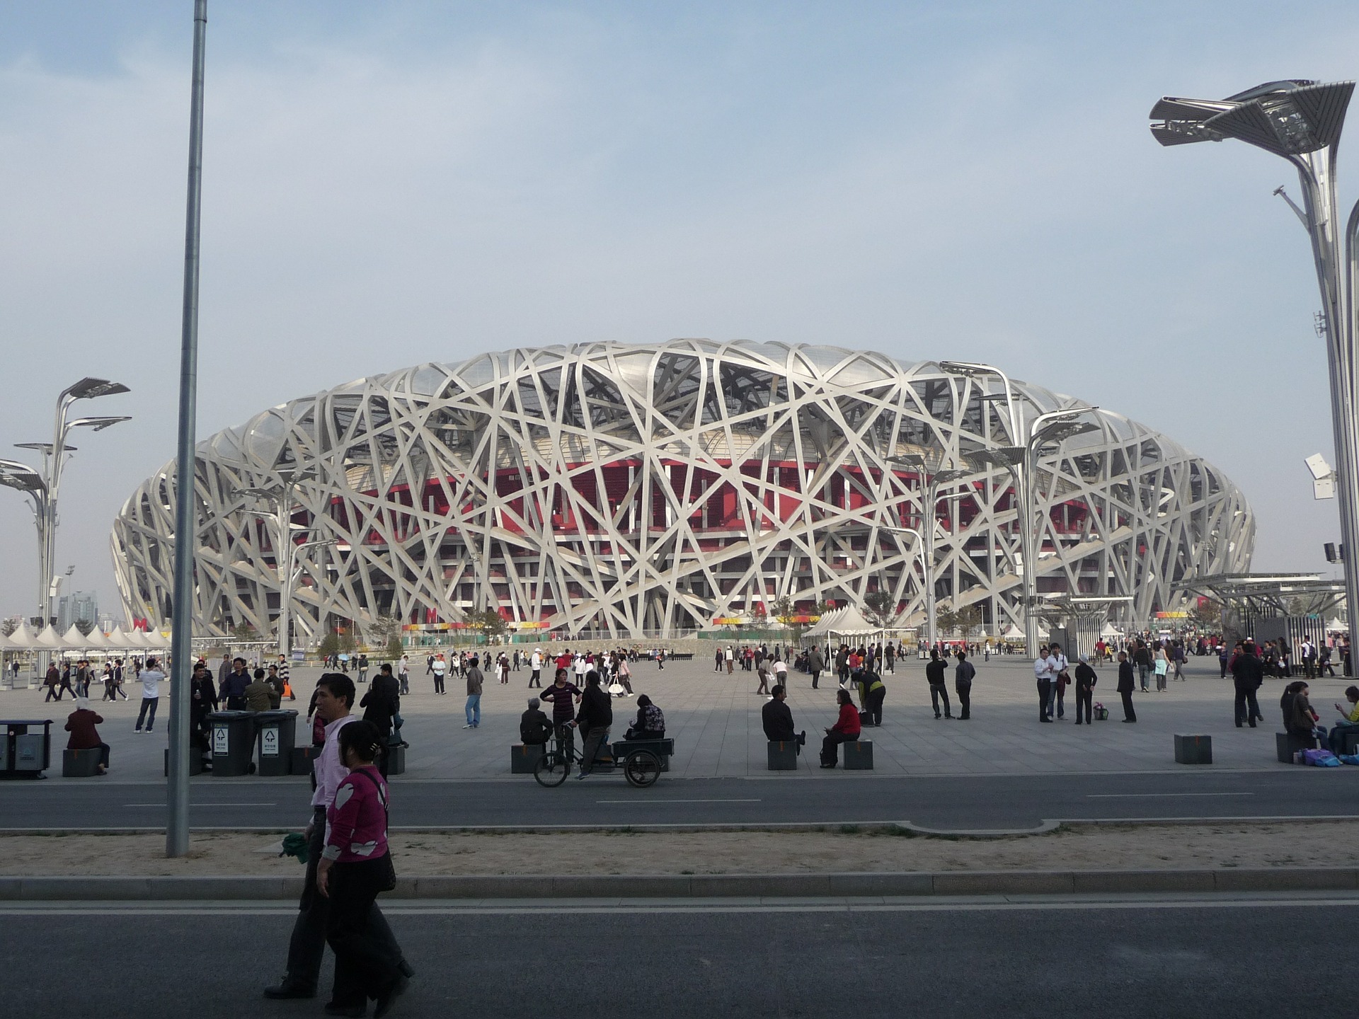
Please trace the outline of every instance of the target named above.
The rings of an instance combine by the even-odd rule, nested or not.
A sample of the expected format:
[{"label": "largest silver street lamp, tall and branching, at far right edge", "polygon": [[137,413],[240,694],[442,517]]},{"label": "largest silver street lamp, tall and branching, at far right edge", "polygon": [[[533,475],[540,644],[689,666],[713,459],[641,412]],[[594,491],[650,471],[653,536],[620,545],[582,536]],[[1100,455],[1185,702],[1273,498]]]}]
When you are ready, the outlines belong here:
[{"label": "largest silver street lamp, tall and branching, at far right edge", "polygon": [[[1354,82],[1269,82],[1226,99],[1165,96],[1151,107],[1151,133],[1162,145],[1237,139],[1287,159],[1298,171],[1303,208],[1279,187],[1311,239],[1321,288],[1318,327],[1326,338],[1330,375],[1330,427],[1336,443],[1340,535],[1359,549],[1359,418],[1355,389],[1356,293],[1359,287],[1359,202],[1349,211],[1344,240],[1336,201],[1336,149]],[[1359,571],[1347,554],[1345,601],[1359,611]],[[1351,617],[1351,626],[1354,625]]]}]

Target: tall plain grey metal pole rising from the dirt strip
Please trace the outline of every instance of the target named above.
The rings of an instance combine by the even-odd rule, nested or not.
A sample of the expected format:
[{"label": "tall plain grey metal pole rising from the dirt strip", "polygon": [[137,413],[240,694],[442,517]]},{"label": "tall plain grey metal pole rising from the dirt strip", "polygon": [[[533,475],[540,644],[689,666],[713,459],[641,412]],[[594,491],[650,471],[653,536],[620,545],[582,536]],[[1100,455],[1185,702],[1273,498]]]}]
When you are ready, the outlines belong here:
[{"label": "tall plain grey metal pole rising from the dirt strip", "polygon": [[208,0],[193,4],[193,88],[189,105],[189,198],[183,242],[183,327],[179,340],[179,451],[175,461],[174,630],[170,637],[170,780],[166,856],[189,852],[189,682],[193,677],[194,418],[198,402],[198,228],[202,196],[202,49]]}]

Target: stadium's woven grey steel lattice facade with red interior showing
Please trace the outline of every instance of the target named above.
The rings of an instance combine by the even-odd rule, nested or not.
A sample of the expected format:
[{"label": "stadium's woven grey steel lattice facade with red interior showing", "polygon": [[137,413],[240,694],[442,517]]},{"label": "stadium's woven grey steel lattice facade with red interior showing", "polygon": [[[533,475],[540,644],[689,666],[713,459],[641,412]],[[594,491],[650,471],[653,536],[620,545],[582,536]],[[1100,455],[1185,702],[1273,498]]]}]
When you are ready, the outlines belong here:
[{"label": "stadium's woven grey steel lattice facade with red interior showing", "polygon": [[[1087,404],[1014,383],[1022,412]],[[424,364],[265,410],[198,446],[200,632],[273,629],[275,529],[242,489],[310,469],[289,511],[302,636],[375,614],[454,622],[497,607],[569,634],[675,636],[787,595],[923,620],[913,535],[928,481],[996,448],[1004,406],[931,361],[830,346],[674,340],[515,349]],[[1131,595],[1144,620],[1190,575],[1249,568],[1254,522],[1216,467],[1105,410],[1034,478],[1040,594]],[[170,615],[174,463],[113,527],[130,615]],[[938,503],[940,605],[1022,625],[1017,500],[1003,469]]]}]

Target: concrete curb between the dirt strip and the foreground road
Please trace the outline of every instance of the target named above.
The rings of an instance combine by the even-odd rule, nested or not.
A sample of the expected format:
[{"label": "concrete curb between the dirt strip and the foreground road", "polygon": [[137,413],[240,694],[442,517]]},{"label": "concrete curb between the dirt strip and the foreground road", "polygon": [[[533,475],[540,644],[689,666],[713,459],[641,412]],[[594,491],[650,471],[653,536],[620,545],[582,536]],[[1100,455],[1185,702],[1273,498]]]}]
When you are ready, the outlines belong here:
[{"label": "concrete curb between the dirt strip and the foreground road", "polygon": [[[0,878],[0,901],[277,901],[291,878]],[[1166,871],[936,871],[905,874],[431,875],[398,878],[400,899],[824,898],[1356,891],[1356,867]]]}]

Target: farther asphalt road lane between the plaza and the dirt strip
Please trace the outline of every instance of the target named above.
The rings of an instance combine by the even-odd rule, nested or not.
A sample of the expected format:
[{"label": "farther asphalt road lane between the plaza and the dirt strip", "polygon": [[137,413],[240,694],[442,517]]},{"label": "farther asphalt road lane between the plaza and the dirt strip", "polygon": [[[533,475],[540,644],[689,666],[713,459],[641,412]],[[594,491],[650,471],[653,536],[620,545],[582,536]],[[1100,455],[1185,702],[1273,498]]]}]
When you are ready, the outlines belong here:
[{"label": "farther asphalt road lane between the plaza and the dirt strip", "polygon": [[[395,827],[462,825],[730,825],[909,821],[945,830],[1026,829],[1045,819],[1359,815],[1359,769],[1277,772],[902,777],[662,779],[633,789],[618,776],[544,789],[516,781],[393,784]],[[295,827],[307,818],[300,779],[200,779],[196,827]],[[155,827],[164,785],[0,783],[0,829]]]}]

